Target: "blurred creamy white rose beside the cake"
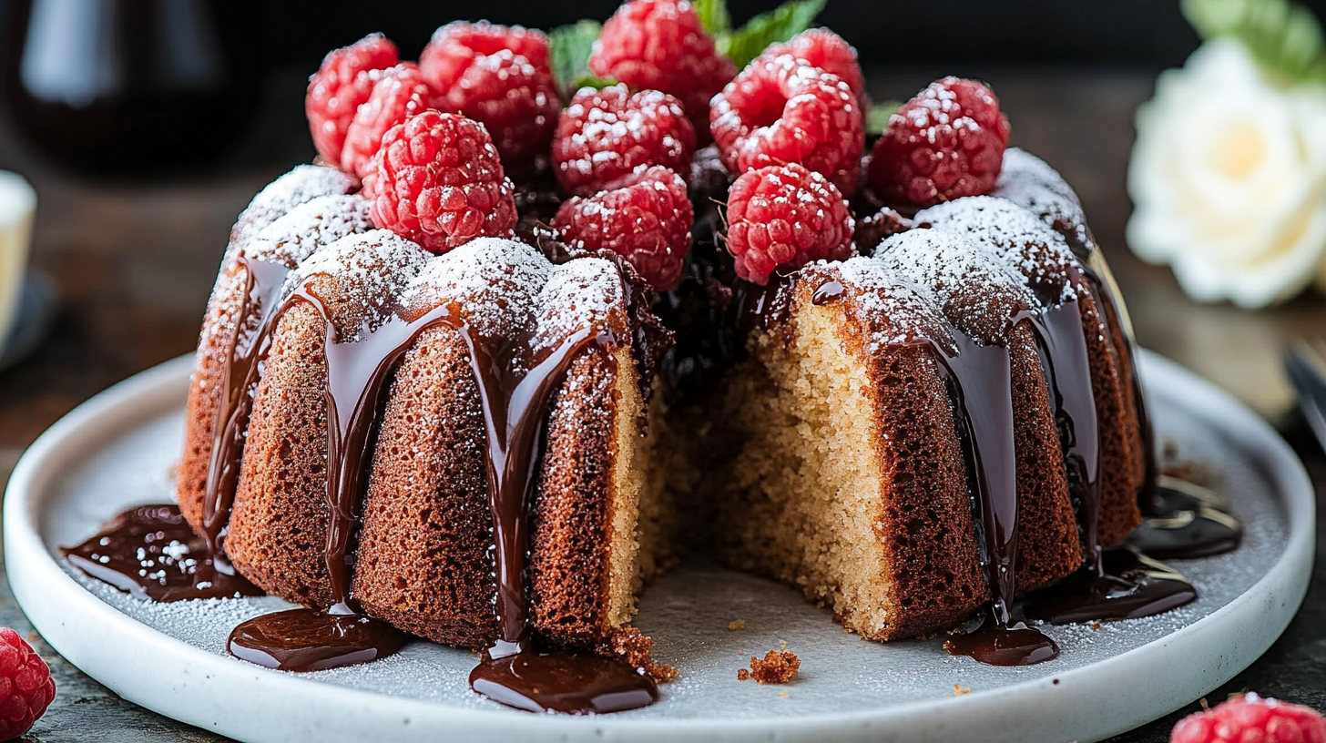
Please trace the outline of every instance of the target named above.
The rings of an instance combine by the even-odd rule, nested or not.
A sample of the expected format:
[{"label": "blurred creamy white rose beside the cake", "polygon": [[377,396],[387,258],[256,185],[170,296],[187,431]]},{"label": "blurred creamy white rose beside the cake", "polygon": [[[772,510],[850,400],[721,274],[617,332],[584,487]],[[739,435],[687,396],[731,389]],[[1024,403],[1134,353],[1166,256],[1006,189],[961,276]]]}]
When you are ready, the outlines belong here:
[{"label": "blurred creamy white rose beside the cake", "polygon": [[1265,306],[1326,287],[1326,90],[1277,88],[1208,41],[1156,81],[1128,166],[1132,251],[1204,301]]}]

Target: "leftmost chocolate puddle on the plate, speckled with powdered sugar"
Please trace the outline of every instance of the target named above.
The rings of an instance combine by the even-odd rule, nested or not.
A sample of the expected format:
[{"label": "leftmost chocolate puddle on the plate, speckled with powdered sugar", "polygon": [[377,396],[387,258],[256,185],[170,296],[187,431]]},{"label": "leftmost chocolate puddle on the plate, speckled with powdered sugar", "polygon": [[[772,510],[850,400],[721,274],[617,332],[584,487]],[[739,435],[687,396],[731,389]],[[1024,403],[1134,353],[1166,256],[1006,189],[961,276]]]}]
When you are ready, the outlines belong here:
[{"label": "leftmost chocolate puddle on the plate, speckled with powdered sugar", "polygon": [[233,572],[212,569],[207,540],[174,503],[138,506],[115,516],[78,547],[60,551],[89,576],[149,601],[261,596]]}]

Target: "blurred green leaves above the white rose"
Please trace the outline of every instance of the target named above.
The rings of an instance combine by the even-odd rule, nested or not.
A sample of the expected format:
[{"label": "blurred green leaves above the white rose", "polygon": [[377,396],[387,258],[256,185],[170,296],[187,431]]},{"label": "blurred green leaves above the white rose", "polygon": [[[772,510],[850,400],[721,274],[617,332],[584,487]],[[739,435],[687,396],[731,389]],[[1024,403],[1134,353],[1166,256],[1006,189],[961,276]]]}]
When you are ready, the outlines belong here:
[{"label": "blurred green leaves above the white rose", "polygon": [[1203,38],[1236,38],[1285,85],[1326,85],[1326,44],[1313,12],[1293,0],[1183,0]]}]

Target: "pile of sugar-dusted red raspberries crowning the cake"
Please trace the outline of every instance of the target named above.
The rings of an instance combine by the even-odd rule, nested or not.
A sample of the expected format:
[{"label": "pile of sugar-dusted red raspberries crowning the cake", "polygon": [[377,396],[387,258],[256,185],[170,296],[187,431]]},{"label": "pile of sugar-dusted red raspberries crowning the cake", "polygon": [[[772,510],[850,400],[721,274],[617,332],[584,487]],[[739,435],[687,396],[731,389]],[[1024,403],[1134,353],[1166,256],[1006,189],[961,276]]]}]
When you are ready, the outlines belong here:
[{"label": "pile of sugar-dusted red raspberries crowning the cake", "polygon": [[[457,21],[434,33],[418,64],[381,34],[332,52],[305,107],[321,159],[362,180],[374,224],[426,249],[514,234],[511,178],[550,184],[550,175],[557,192],[521,191],[521,235],[556,232],[573,255],[617,252],[670,291],[686,273],[696,210],[727,192],[721,241],[737,276],[765,284],[853,253],[849,199],[863,183],[855,49],[822,28],[784,38],[739,72],[690,0],[627,0],[583,62],[609,81],[564,107],[545,33]],[[940,80],[890,119],[858,203],[910,214],[988,192],[1008,135],[989,89]],[[561,203],[550,227],[540,218],[552,211],[536,203]],[[717,215],[701,216],[708,235]]]}]

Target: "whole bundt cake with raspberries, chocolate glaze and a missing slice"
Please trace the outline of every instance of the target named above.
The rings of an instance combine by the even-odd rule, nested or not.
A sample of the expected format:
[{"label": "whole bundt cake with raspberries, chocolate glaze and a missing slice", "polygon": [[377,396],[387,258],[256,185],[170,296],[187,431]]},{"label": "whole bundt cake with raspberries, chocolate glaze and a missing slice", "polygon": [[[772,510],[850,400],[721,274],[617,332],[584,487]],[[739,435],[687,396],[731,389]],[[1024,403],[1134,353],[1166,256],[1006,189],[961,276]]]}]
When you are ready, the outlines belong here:
[{"label": "whole bundt cake with raspberries, chocolate glaze and a missing slice", "polygon": [[[646,1],[599,45],[699,28]],[[156,594],[247,580],[304,606],[237,628],[233,654],[318,670],[408,633],[485,649],[471,685],[493,699],[595,712],[675,675],[630,622],[683,551],[867,640],[968,629],[951,651],[1002,665],[1058,653],[1018,621],[1025,594],[1053,586],[1049,621],[1195,598],[1118,557],[1155,474],[1127,314],[1073,190],[1006,147],[985,86],[903,105],[858,183],[861,70],[815,31],[713,97],[719,146],[693,158],[687,90],[577,96],[556,129],[578,149],[554,157],[593,139],[636,165],[568,196],[552,174],[589,159],[522,163],[544,178],[517,187],[485,125],[529,122],[427,107],[491,85],[542,110],[548,38],[444,31],[424,56],[475,88],[438,90],[377,34],[333,52],[309,121],[320,162],[354,167],[296,167],[231,234],[176,484],[206,556]],[[371,159],[342,159],[347,137]]]}]

